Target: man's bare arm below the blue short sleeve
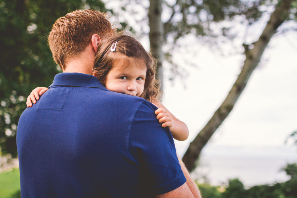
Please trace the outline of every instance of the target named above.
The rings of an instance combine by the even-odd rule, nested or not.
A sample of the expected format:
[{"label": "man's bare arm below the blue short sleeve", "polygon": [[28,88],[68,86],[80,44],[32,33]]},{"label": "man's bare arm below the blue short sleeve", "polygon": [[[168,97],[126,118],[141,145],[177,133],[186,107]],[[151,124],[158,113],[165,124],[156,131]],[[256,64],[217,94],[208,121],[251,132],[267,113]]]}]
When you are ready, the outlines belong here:
[{"label": "man's bare arm below the blue short sleeve", "polygon": [[177,189],[174,189],[173,191],[170,191],[165,194],[157,195],[156,197],[157,198],[166,198],[166,197],[201,198],[198,186],[192,180],[187,168],[184,165],[184,162],[181,161],[179,156],[177,156],[177,158],[178,158],[179,164],[181,165],[181,170],[184,172],[184,176],[187,179],[186,183],[184,183],[182,186],[178,187]]}]

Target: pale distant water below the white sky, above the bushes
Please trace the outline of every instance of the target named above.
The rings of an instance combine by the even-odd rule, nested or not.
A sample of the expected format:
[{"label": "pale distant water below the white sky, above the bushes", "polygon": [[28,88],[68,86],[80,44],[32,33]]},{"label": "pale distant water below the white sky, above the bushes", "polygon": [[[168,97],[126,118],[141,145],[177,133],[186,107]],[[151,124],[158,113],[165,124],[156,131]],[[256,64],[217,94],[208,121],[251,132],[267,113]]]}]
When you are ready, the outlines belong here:
[{"label": "pale distant water below the white sky, above the bushes", "polygon": [[219,186],[238,178],[246,187],[287,181],[290,177],[281,168],[297,163],[296,147],[244,146],[208,147],[203,151],[194,179]]}]

